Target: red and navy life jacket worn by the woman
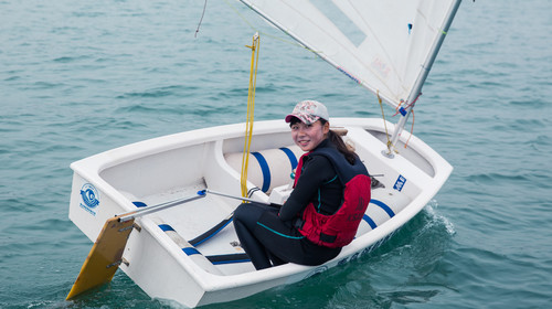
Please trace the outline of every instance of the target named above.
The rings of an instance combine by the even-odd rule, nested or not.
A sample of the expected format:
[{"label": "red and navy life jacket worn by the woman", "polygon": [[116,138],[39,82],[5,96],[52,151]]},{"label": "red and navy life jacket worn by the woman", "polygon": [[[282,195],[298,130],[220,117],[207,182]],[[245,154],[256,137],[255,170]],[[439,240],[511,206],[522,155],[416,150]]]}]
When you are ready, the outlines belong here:
[{"label": "red and navy life jacket worn by the woman", "polygon": [[295,183],[299,179],[306,156],[323,156],[329,159],[344,185],[343,202],[332,215],[318,213],[315,205],[309,203],[302,212],[302,226],[299,227],[299,233],[317,245],[330,248],[343,247],[354,238],[370,202],[370,175],[360,159],[357,158],[354,164],[351,164],[337,149],[325,147],[301,156]]}]

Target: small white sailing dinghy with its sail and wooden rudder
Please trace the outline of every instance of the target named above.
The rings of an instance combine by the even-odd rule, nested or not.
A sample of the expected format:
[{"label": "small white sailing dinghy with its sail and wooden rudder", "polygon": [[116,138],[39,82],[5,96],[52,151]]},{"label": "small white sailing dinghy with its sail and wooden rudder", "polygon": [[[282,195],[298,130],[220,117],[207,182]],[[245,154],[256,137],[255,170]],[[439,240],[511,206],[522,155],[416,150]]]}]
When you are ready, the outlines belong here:
[{"label": "small white sailing dinghy with its sail and wooden rudder", "polygon": [[[230,224],[238,202],[215,194],[241,195],[244,124],[187,131],[72,163],[70,219],[96,242],[74,288],[109,280],[120,264],[152,298],[185,307],[244,298],[376,248],[448,179],[452,166],[402,129],[460,0],[242,2],[401,113],[395,126],[380,118],[330,119],[378,175],[357,237],[317,267],[286,264],[255,270]],[[251,151],[250,198],[285,200],[289,173],[301,154],[287,124],[255,122]],[[114,221],[116,215],[121,216]],[[99,257],[103,264],[93,255],[98,252],[107,253]],[[72,290],[68,298],[82,290]]]}]

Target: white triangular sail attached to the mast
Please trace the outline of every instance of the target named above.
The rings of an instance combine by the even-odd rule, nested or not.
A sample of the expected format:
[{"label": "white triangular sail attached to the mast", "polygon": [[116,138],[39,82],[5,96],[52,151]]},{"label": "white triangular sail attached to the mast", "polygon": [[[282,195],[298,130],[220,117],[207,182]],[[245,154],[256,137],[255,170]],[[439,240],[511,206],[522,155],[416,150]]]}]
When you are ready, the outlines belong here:
[{"label": "white triangular sail attached to the mast", "polygon": [[242,0],[392,106],[421,90],[459,0]]}]

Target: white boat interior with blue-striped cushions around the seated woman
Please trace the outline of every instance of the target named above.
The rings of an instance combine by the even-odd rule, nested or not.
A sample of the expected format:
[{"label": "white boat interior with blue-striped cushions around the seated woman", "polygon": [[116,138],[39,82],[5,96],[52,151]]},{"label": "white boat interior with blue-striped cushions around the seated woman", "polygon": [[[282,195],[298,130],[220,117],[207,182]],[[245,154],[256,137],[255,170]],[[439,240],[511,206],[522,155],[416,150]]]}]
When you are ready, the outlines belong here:
[{"label": "white boat interior with blue-striped cushions around the seated woman", "polygon": [[[401,212],[421,188],[397,169],[386,162],[380,149],[384,149],[384,134],[358,127],[347,128],[342,134],[347,143],[357,153],[372,177],[372,200],[361,222],[357,237],[384,224]],[[381,147],[374,145],[381,143]],[[369,147],[370,146],[370,147]],[[241,196],[241,167],[244,138],[233,137],[202,143],[177,147],[150,156],[104,169],[103,180],[124,194],[130,202],[157,205],[198,194],[209,189]],[[376,149],[376,150],[374,150]],[[414,149],[408,150],[406,160],[414,162],[417,171],[427,178],[434,174],[432,166]],[[250,196],[264,202],[283,203],[290,192],[290,174],[302,151],[293,143],[288,131],[255,135],[248,157],[247,188]],[[403,162],[403,164],[406,164]],[[201,167],[201,168],[198,168]],[[417,172],[416,171],[416,172]],[[401,179],[404,179],[401,182]],[[423,180],[423,179],[422,179]],[[244,251],[240,247],[232,224],[206,235],[201,243],[192,242],[213,226],[231,216],[238,200],[206,194],[205,198],[170,207],[148,215],[182,254],[194,255],[205,270],[217,275],[235,275],[253,271]],[[230,222],[229,222],[230,223]],[[198,259],[199,258],[199,259]]]}]

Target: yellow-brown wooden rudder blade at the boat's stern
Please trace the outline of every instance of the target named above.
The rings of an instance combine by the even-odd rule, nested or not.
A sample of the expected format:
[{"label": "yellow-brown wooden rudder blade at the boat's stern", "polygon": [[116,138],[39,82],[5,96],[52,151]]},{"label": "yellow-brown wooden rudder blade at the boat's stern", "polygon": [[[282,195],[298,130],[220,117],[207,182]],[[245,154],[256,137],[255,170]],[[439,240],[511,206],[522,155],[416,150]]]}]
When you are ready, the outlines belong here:
[{"label": "yellow-brown wooden rudder blade at the boat's stern", "polygon": [[106,221],[96,243],[73,284],[67,300],[112,280],[119,268],[128,236],[132,232],[134,219],[119,222],[119,217]]}]

